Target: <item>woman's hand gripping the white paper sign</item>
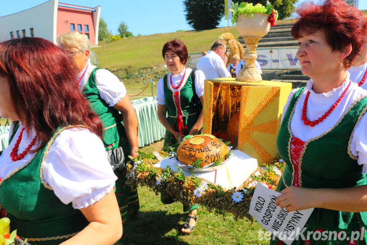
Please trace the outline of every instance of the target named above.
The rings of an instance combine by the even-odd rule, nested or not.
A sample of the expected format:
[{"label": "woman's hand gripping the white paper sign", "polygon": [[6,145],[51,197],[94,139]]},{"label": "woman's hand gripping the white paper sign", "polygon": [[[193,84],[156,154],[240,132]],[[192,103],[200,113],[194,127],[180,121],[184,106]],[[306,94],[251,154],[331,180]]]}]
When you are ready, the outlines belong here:
[{"label": "woman's hand gripping the white paper sign", "polygon": [[317,189],[289,186],[280,191],[281,195],[277,198],[275,205],[286,207],[285,210],[288,212],[314,208],[315,190]]}]

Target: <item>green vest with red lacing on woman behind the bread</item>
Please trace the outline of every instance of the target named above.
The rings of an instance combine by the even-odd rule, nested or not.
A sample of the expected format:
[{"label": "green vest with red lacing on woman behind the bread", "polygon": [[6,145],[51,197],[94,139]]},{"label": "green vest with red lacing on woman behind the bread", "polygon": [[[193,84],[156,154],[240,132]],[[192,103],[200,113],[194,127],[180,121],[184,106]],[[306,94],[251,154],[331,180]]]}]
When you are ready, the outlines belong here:
[{"label": "green vest with red lacing on woman behind the bread", "polygon": [[[178,92],[178,101],[176,100],[177,105],[175,104],[175,96],[174,91],[168,86],[167,75],[163,77],[163,92],[164,92],[164,103],[168,112],[168,122],[175,129],[175,121],[177,117],[177,111],[181,111],[182,120],[184,122],[184,133],[188,134],[191,128],[194,126],[196,121],[199,118],[200,112],[194,106],[195,102],[194,96],[197,96],[195,93],[195,76],[189,76],[185,85],[179,89]],[[178,109],[177,109],[178,106]]]}]

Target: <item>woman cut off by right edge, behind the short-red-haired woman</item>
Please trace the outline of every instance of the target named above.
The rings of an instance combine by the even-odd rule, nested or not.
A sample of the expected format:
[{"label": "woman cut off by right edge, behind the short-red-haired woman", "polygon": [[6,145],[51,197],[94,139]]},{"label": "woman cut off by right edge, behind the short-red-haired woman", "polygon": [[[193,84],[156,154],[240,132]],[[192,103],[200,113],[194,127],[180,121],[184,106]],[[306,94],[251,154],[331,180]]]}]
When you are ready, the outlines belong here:
[{"label": "woman cut off by right edge, behind the short-red-haired woman", "polygon": [[[364,18],[367,20],[367,16],[364,16]],[[359,54],[353,61],[348,72],[350,73],[351,81],[358,83],[361,88],[367,89],[367,81],[365,81],[367,77],[367,33]]]}]

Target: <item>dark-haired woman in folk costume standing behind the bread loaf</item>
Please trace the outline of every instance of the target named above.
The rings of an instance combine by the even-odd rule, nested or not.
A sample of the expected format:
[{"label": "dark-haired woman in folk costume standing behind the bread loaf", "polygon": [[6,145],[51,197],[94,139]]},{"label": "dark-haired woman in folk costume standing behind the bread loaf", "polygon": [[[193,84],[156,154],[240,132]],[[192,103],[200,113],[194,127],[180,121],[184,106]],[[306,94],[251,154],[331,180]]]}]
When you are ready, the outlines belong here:
[{"label": "dark-haired woman in folk costume standing behind the bread loaf", "polygon": [[[198,108],[198,101],[203,105],[205,75],[200,70],[186,68],[188,50],[184,42],[174,39],[163,45],[162,56],[169,74],[157,83],[158,119],[167,129],[164,145],[180,143],[188,134],[196,135],[203,126],[203,112]],[[166,116],[168,112],[168,117]],[[164,204],[173,203],[171,197],[161,195]],[[188,221],[182,232],[191,233],[197,221],[199,204],[184,204],[184,212],[189,211]]]}]

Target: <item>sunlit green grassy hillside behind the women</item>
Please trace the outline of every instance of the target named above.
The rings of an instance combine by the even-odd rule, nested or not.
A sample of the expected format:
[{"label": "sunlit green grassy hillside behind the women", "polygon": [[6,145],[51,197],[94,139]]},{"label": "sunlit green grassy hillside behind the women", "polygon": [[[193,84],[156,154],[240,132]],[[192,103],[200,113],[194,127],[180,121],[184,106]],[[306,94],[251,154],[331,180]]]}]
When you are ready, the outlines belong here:
[{"label": "sunlit green grassy hillside behind the women", "polygon": [[[277,24],[292,23],[294,19],[280,20]],[[147,27],[149,28],[149,27]],[[177,31],[147,36],[128,37],[111,42],[92,50],[97,54],[98,65],[115,74],[142,72],[140,69],[163,65],[163,44],[174,38],[185,42],[189,53],[201,53],[209,50],[213,41],[226,30],[237,38],[240,34],[236,26],[222,27],[203,31]],[[127,69],[127,70],[126,70]]]}]

